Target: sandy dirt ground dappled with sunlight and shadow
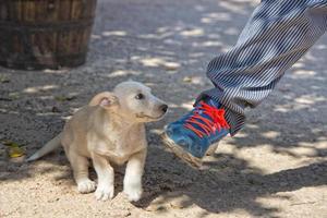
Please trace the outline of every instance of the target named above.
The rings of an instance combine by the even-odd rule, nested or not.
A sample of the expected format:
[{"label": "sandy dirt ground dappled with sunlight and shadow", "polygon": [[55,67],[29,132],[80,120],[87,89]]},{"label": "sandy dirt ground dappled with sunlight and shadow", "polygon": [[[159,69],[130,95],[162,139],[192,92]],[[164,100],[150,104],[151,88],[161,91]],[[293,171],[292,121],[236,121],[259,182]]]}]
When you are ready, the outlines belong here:
[{"label": "sandy dirt ground dappled with sunlight and shadow", "polygon": [[[162,126],[208,87],[208,61],[227,51],[257,1],[99,0],[87,63],[60,71],[0,68],[0,140],[27,155],[50,140],[74,109],[128,78],[167,100],[165,120],[147,126],[144,197],[97,202],[78,194],[62,150],[14,164],[0,145],[0,217],[327,217],[327,36],[287,72],[235,137],[220,142],[208,168],[191,169],[164,146]],[[7,100],[5,100],[7,99]],[[9,99],[9,100],[8,100]],[[95,179],[93,171],[92,177]]]}]

